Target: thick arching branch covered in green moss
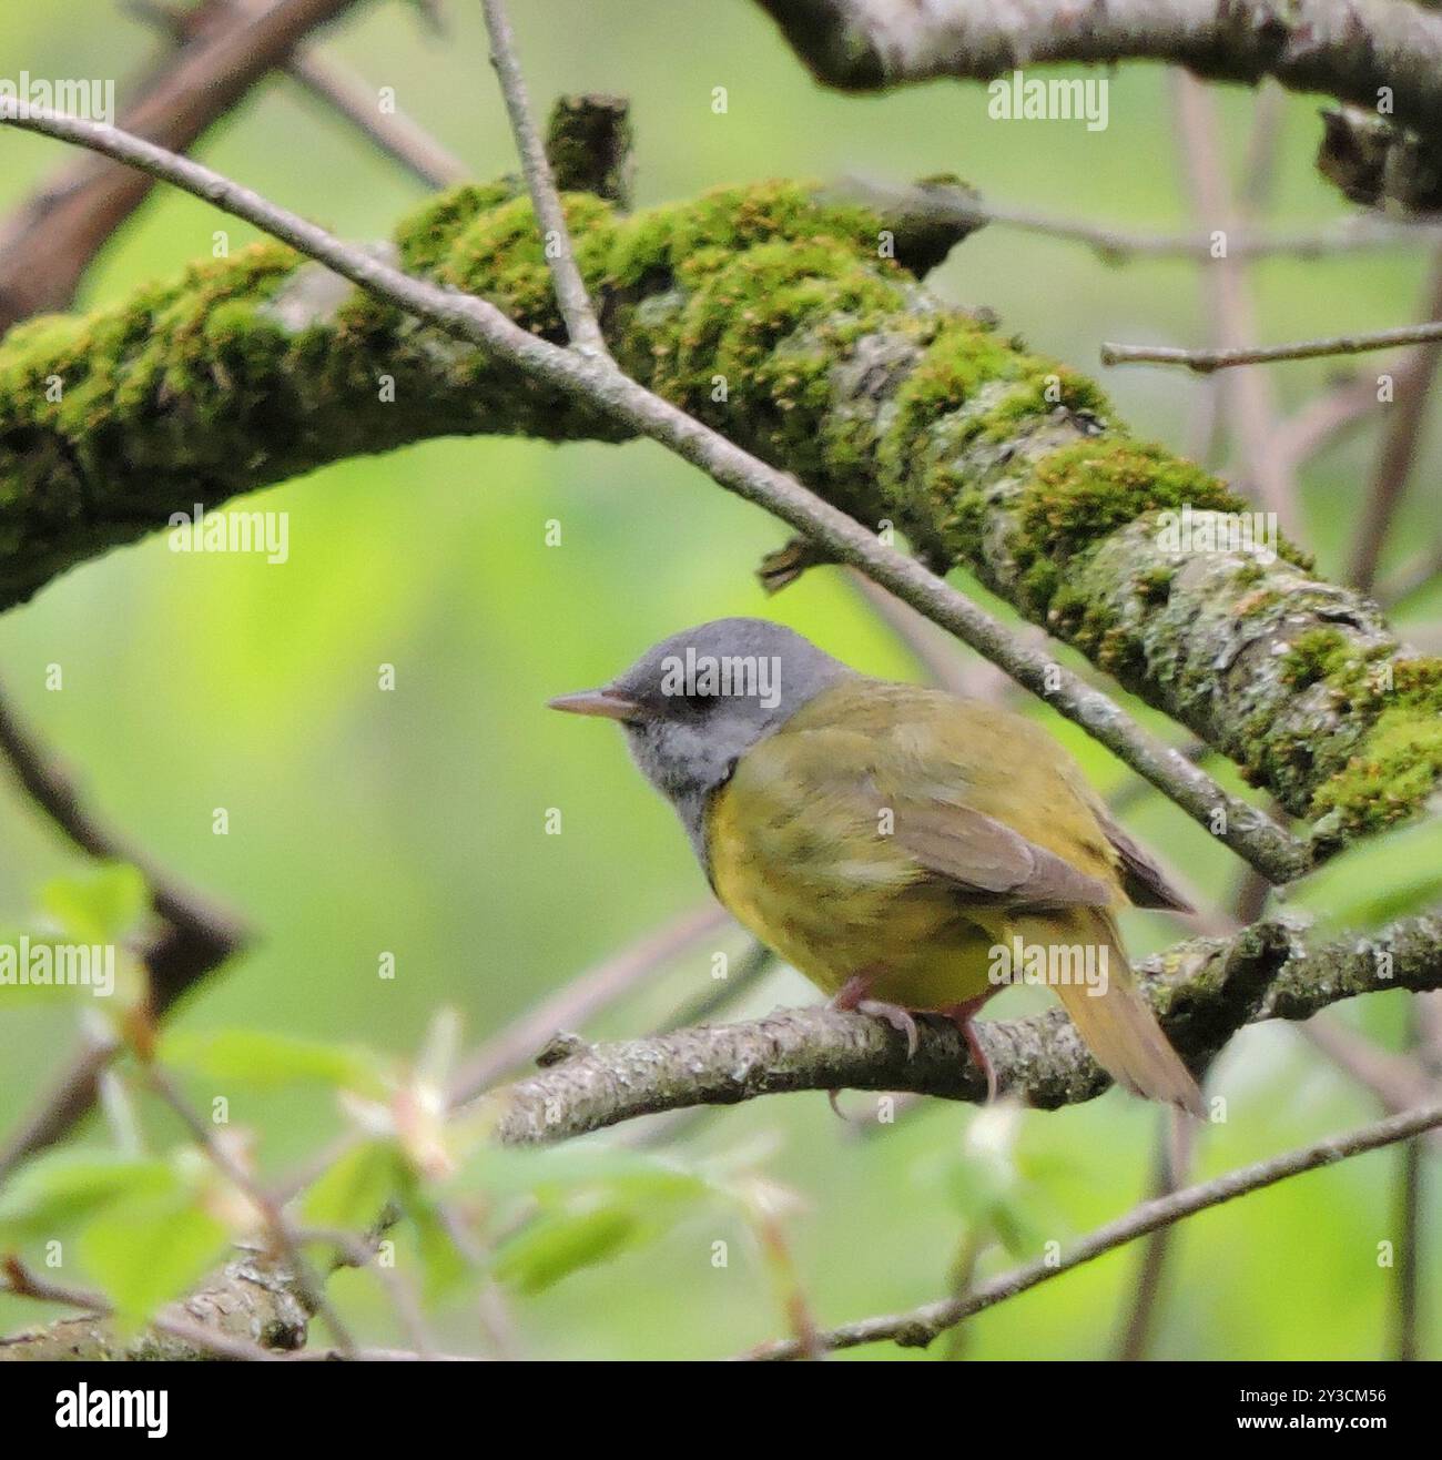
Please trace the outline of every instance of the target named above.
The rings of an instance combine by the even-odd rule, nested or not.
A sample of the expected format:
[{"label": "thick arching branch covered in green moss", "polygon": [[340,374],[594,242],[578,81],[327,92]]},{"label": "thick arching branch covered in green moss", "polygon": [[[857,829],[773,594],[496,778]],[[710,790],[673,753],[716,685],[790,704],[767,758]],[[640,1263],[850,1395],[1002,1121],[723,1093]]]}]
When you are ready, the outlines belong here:
[{"label": "thick arching branch covered in green moss", "polygon": [[[973,572],[1312,819],[1318,851],[1435,794],[1442,661],[1287,543],[1227,546],[1248,505],[1131,437],[1090,380],[925,291],[914,270],[934,239],[912,250],[887,219],[793,182],[631,218],[569,194],[566,213],[625,371]],[[394,248],[407,272],[562,339],[512,182],[439,196]],[[489,432],[623,434],[277,244],[35,320],[0,343],[0,607],[197,499]]]}]

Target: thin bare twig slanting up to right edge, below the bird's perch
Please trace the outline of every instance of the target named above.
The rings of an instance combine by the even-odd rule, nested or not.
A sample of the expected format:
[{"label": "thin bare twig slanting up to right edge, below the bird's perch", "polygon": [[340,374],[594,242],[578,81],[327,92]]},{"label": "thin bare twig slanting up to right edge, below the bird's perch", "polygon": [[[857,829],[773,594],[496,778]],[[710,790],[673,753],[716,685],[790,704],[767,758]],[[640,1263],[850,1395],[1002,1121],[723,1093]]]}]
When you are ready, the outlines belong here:
[{"label": "thin bare twig slanting up to right edge, below the bird's perch", "polygon": [[[1195,1216],[1208,1207],[1220,1206],[1223,1202],[1232,1202],[1236,1197],[1260,1191],[1262,1187],[1276,1186],[1279,1181],[1286,1181],[1305,1171],[1315,1171],[1318,1167],[1328,1167],[1368,1150],[1378,1150],[1438,1126],[1442,1126],[1442,1102],[1422,1105],[1406,1115],[1389,1115],[1375,1126],[1365,1126],[1344,1136],[1328,1136],[1286,1155],[1270,1156],[1254,1165],[1229,1171],[1211,1181],[1185,1187],[1153,1202],[1143,1202],[1125,1216],[1083,1237],[1061,1259],[1048,1256],[1025,1263],[1000,1278],[978,1285],[963,1298],[946,1298],[940,1302],[922,1304],[908,1313],[889,1313],[876,1318],[863,1318],[858,1323],[847,1323],[838,1329],[823,1330],[819,1340],[829,1350],[852,1349],[864,1343],[887,1340],[908,1348],[924,1348],[937,1334],[965,1318],[982,1313],[985,1308],[992,1308],[1007,1298],[1014,1298],[1039,1283],[1049,1282],[1052,1278],[1060,1278],[1083,1263],[1124,1247],[1127,1242],[1134,1242],[1138,1237],[1171,1226],[1184,1218]],[[747,1359],[794,1359],[803,1355],[795,1340],[782,1339],[775,1343],[763,1343],[741,1356]]]}]

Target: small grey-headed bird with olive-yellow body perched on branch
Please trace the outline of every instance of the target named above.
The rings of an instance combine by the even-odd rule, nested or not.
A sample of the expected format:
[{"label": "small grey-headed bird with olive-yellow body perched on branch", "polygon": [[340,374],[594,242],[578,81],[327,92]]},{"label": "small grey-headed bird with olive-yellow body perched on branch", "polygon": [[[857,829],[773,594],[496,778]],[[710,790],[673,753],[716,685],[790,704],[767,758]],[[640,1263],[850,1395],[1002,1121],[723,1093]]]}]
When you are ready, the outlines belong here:
[{"label": "small grey-headed bird with olive-yellow body perched on branch", "polygon": [[1098,1061],[1201,1114],[1137,990],[1117,910],[1191,911],[1039,726],[860,675],[779,623],[718,619],[556,710],[620,721],[739,921],[915,1047],[914,1010],[972,1028],[1048,983]]}]

